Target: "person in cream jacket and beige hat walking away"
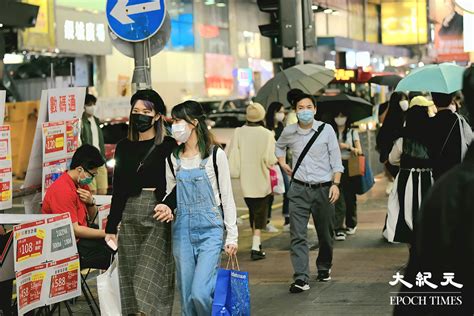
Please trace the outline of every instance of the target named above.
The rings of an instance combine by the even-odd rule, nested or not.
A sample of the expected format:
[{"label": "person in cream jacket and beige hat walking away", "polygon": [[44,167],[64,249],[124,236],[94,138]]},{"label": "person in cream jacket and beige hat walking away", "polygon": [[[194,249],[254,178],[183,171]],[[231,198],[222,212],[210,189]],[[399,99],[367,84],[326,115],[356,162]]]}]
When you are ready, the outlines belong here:
[{"label": "person in cream jacket and beige hat walking away", "polygon": [[267,225],[267,212],[272,194],[270,167],[277,163],[275,138],[264,126],[265,109],[259,103],[247,107],[247,124],[237,128],[230,145],[229,165],[240,185],[249,208],[253,232],[252,260],[265,258],[260,233]]}]

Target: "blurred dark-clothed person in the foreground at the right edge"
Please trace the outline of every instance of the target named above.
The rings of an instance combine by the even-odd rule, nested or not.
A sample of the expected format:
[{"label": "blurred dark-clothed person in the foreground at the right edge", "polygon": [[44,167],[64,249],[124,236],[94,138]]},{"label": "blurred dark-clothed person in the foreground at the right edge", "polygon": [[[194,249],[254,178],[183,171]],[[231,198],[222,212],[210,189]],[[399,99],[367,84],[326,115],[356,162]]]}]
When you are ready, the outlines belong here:
[{"label": "blurred dark-clothed person in the foreground at the right edge", "polygon": [[[474,66],[464,74],[463,94],[473,115]],[[426,295],[425,306],[396,306],[395,315],[474,314],[473,197],[474,146],[471,145],[462,164],[448,171],[431,188],[415,226],[415,241],[404,279],[414,284],[420,278],[419,273],[431,273],[429,281],[438,287],[403,287],[399,296],[420,295],[410,292],[432,294]]]}]

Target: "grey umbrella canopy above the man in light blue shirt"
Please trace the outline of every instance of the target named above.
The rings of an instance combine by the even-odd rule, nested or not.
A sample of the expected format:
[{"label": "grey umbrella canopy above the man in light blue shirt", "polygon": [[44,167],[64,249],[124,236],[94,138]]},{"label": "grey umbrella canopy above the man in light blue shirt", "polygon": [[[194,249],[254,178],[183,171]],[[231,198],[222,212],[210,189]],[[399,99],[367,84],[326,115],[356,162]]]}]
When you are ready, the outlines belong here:
[{"label": "grey umbrella canopy above the man in light blue shirt", "polygon": [[301,89],[315,94],[334,79],[334,71],[323,66],[304,64],[285,69],[270,79],[257,93],[255,101],[267,107],[278,101],[289,106],[286,94],[291,89]]}]

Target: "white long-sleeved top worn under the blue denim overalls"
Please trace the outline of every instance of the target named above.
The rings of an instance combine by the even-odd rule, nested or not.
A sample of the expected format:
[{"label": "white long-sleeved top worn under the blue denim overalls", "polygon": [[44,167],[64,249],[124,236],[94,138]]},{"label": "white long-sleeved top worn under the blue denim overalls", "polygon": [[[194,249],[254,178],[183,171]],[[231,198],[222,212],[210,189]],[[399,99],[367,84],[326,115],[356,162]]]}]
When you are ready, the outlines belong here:
[{"label": "white long-sleeved top worn under the blue denim overalls", "polygon": [[[174,167],[174,174],[176,174],[177,163],[176,158],[172,155],[171,162]],[[219,187],[222,196],[222,208],[224,210],[224,225],[227,229],[226,245],[235,244],[237,245],[238,240],[238,229],[237,229],[237,209],[234,202],[234,194],[232,193],[232,182],[230,179],[229,164],[227,162],[227,156],[222,149],[217,150],[217,170],[219,172]],[[181,168],[183,169],[195,169],[199,168],[201,163],[201,157],[196,155],[192,158],[181,158]],[[209,157],[206,163],[206,173],[211,182],[212,189],[214,191],[214,197],[217,205],[221,204],[219,198],[219,190],[217,187],[216,174],[214,173],[214,165],[212,162],[212,155]],[[166,164],[166,194],[170,194],[173,188],[176,186],[176,178],[171,172],[169,164]]]}]

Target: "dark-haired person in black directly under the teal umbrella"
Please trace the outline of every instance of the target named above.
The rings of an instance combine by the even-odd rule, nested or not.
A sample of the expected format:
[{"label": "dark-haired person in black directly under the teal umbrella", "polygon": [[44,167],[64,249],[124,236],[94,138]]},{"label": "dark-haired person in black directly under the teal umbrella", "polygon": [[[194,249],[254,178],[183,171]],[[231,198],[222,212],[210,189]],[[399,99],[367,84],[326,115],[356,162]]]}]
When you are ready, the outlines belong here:
[{"label": "dark-haired person in black directly under the teal umbrella", "polygon": [[449,105],[452,94],[431,93],[438,113],[430,128],[430,157],[433,159],[433,178],[438,180],[446,171],[461,162],[461,132],[459,120]]}]

